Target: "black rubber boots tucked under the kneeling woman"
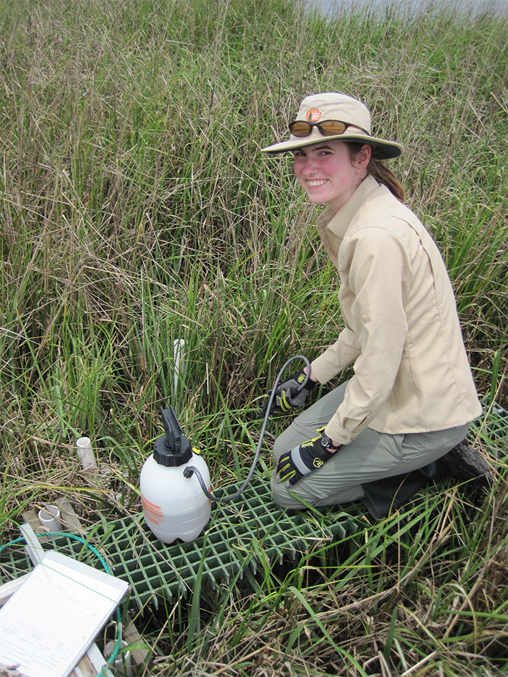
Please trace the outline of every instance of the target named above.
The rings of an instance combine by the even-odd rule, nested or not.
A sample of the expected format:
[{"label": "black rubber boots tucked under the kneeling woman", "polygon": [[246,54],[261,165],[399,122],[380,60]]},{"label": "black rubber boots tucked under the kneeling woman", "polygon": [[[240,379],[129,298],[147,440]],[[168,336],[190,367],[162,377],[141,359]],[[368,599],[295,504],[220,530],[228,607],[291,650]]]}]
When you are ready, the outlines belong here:
[{"label": "black rubber boots tucked under the kneeling woman", "polygon": [[447,477],[471,480],[472,487],[482,489],[488,489],[492,481],[487,463],[464,439],[437,461],[424,465],[423,468],[362,484],[365,492],[362,501],[370,514],[376,520],[381,520],[404,506],[429,482]]}]

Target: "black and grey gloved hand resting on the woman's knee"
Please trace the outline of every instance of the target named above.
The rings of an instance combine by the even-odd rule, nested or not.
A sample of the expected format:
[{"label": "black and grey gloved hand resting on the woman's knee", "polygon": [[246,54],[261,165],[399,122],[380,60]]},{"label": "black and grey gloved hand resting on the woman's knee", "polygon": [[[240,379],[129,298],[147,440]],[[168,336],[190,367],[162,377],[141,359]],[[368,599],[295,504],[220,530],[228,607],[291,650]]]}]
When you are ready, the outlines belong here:
[{"label": "black and grey gloved hand resting on the woman's knee", "polygon": [[303,442],[290,451],[284,451],[279,456],[275,472],[277,482],[296,484],[302,477],[316,468],[321,468],[323,463],[332,458],[342,445],[334,446],[324,430],[324,427],[320,428],[317,430],[317,437]]}]

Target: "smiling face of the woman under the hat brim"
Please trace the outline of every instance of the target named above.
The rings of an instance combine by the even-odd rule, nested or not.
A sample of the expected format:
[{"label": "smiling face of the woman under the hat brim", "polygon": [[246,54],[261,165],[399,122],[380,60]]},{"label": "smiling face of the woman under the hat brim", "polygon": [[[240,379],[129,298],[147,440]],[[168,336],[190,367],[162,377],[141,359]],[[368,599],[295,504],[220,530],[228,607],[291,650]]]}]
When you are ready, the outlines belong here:
[{"label": "smiling face of the woman under the hat brim", "polygon": [[370,146],[363,145],[355,161],[339,139],[298,148],[293,155],[296,178],[310,202],[338,212],[366,176]]}]

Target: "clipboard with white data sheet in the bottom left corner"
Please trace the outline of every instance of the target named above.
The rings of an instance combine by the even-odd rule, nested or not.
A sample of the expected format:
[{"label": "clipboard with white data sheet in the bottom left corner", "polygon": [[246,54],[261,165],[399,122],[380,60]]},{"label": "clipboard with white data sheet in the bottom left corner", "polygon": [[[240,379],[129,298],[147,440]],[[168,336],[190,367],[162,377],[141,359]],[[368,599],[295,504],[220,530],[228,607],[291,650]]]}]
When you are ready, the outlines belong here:
[{"label": "clipboard with white data sheet in the bottom left corner", "polygon": [[0,664],[23,677],[67,677],[128,590],[128,583],[47,552],[0,609]]}]

